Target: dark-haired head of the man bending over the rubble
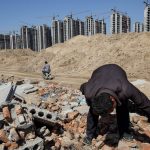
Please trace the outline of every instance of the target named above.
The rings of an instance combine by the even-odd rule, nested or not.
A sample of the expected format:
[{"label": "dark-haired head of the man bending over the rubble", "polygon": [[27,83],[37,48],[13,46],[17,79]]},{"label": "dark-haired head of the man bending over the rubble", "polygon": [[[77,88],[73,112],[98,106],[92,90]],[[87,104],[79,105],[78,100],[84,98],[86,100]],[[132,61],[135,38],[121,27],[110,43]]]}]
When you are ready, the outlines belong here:
[{"label": "dark-haired head of the man bending over the rubble", "polygon": [[111,113],[116,107],[116,101],[108,93],[101,93],[92,101],[93,113],[104,116]]}]

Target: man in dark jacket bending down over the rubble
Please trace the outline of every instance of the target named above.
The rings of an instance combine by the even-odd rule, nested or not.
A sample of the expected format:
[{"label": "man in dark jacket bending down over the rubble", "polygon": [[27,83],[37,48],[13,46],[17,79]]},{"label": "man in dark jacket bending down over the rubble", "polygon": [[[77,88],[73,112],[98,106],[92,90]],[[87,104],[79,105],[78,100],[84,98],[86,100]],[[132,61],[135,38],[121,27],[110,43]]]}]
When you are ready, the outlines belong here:
[{"label": "man in dark jacket bending down over the rubble", "polygon": [[[107,64],[97,68],[88,82],[80,87],[90,106],[87,116],[87,129],[84,143],[90,144],[95,137],[99,116],[106,115],[116,108],[120,138],[129,134],[128,102],[150,118],[150,100],[132,85],[126,72],[116,64]],[[130,134],[129,134],[130,135]]]}]

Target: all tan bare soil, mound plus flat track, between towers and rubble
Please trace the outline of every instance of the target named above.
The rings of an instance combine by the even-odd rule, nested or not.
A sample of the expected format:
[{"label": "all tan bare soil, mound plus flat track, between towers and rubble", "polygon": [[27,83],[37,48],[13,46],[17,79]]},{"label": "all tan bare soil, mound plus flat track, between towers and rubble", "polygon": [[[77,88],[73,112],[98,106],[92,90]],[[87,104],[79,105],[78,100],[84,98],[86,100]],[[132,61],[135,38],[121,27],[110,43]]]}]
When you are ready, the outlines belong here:
[{"label": "all tan bare soil, mound plus flat track, between towers and rubble", "polygon": [[131,81],[149,81],[150,33],[77,36],[41,53],[3,50],[0,51],[0,74],[42,80],[41,68],[45,60],[55,76],[52,82],[76,88],[88,80],[94,69],[108,63],[123,67]]}]

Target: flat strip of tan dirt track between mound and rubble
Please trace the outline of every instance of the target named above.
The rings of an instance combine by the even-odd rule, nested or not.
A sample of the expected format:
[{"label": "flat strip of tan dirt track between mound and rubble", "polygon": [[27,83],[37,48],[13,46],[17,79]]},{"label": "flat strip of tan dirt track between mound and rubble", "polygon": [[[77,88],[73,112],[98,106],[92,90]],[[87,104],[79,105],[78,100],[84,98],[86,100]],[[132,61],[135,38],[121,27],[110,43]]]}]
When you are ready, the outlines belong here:
[{"label": "flat strip of tan dirt track between mound and rubble", "polygon": [[[79,89],[80,85],[84,82],[87,82],[90,78],[89,74],[53,74],[52,80],[44,80],[42,78],[42,73],[36,73],[36,72],[20,72],[15,69],[11,68],[2,68],[0,67],[0,73],[1,75],[4,74],[5,78],[8,78],[10,76],[14,76],[15,80],[37,80],[37,81],[45,81],[48,83],[57,83],[62,86],[68,86],[71,88]],[[143,80],[138,78],[129,78],[129,81],[136,81],[136,80]],[[148,97],[150,97],[150,81],[146,80],[143,84],[137,84],[135,85],[137,88],[139,88],[142,92],[144,92]]]}]

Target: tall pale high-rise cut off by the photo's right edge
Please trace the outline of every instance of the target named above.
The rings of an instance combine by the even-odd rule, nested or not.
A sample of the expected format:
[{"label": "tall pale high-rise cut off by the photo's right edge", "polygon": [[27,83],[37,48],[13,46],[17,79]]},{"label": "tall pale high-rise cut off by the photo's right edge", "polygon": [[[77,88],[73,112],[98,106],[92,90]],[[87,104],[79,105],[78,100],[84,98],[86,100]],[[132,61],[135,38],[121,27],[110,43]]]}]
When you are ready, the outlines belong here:
[{"label": "tall pale high-rise cut off by the photo's right edge", "polygon": [[144,9],[144,31],[150,31],[150,4],[146,4]]}]

